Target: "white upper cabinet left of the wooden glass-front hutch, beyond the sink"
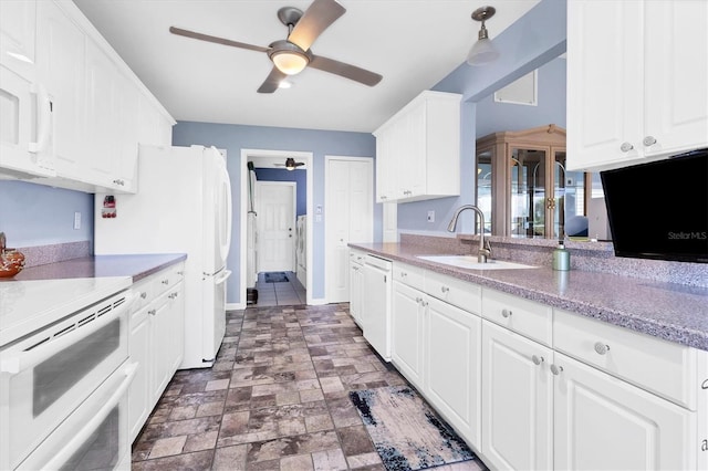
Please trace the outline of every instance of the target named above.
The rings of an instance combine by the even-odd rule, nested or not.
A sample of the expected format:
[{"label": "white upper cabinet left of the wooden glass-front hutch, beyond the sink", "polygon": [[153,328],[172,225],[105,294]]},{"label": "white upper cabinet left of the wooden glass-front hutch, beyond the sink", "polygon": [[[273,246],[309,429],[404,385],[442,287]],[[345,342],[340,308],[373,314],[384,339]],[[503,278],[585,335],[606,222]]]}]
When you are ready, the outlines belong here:
[{"label": "white upper cabinet left of the wooden glass-front hutch, beyond the sink", "polygon": [[460,100],[423,92],[374,132],[377,202],[460,193]]}]

